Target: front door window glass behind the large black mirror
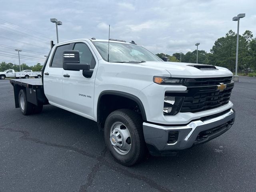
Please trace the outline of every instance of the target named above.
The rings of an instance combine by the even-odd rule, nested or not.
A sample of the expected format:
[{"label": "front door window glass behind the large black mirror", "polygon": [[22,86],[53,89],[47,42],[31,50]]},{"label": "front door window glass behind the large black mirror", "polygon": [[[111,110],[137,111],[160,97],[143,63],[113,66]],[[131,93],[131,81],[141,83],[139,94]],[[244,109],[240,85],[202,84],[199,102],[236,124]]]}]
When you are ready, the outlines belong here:
[{"label": "front door window glass behind the large black mirror", "polygon": [[74,50],[79,51],[80,63],[88,63],[90,64],[90,68],[94,69],[96,65],[96,61],[94,59],[94,56],[92,55],[92,52],[90,51],[90,49],[86,44],[76,43],[74,46]]}]

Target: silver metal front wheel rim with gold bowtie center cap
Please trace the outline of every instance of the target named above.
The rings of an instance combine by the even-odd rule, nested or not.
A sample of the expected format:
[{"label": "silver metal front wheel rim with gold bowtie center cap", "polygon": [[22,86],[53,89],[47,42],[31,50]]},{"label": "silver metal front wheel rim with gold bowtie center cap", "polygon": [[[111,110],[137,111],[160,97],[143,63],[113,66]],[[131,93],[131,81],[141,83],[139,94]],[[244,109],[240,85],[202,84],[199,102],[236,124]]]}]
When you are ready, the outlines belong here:
[{"label": "silver metal front wheel rim with gold bowtie center cap", "polygon": [[126,155],[131,149],[131,135],[121,122],[115,122],[110,128],[110,143],[118,154]]}]

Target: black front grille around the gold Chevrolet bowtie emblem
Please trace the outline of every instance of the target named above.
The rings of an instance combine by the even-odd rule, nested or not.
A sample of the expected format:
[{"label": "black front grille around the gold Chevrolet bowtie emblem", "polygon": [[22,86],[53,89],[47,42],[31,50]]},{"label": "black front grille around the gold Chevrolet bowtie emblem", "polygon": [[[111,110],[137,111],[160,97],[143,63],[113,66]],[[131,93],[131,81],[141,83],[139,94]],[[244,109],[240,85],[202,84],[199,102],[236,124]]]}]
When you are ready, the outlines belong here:
[{"label": "black front grille around the gold Chevrolet bowtie emblem", "polygon": [[[221,83],[226,85],[223,91],[218,90]],[[232,82],[231,76],[188,78],[183,85],[187,87],[186,92],[166,92],[165,95],[184,97],[180,112],[200,112],[228,104],[234,82]]]}]

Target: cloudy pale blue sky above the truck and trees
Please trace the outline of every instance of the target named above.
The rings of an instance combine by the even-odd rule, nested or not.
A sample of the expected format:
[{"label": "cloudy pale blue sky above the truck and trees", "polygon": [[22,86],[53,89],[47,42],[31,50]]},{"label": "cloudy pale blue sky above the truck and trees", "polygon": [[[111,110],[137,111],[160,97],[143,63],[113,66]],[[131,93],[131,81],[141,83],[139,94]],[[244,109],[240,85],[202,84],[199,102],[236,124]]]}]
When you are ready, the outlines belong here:
[{"label": "cloudy pale blue sky above the truck and trees", "polygon": [[134,40],[154,54],[172,55],[196,49],[210,52],[214,42],[231,29],[239,13],[240,34],[251,30],[256,37],[255,0],[1,0],[0,62],[43,64],[56,43],[79,38]]}]

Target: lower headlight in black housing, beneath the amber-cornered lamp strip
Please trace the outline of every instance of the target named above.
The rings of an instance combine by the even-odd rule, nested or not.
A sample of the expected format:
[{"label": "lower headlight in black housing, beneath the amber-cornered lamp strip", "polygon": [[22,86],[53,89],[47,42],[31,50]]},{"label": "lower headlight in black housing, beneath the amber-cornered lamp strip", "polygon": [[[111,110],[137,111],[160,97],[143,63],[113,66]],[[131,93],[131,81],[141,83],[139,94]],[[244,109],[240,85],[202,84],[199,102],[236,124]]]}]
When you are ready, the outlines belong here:
[{"label": "lower headlight in black housing, beneath the amber-cornered lamp strip", "polygon": [[164,115],[176,115],[180,112],[184,97],[164,96]]}]

